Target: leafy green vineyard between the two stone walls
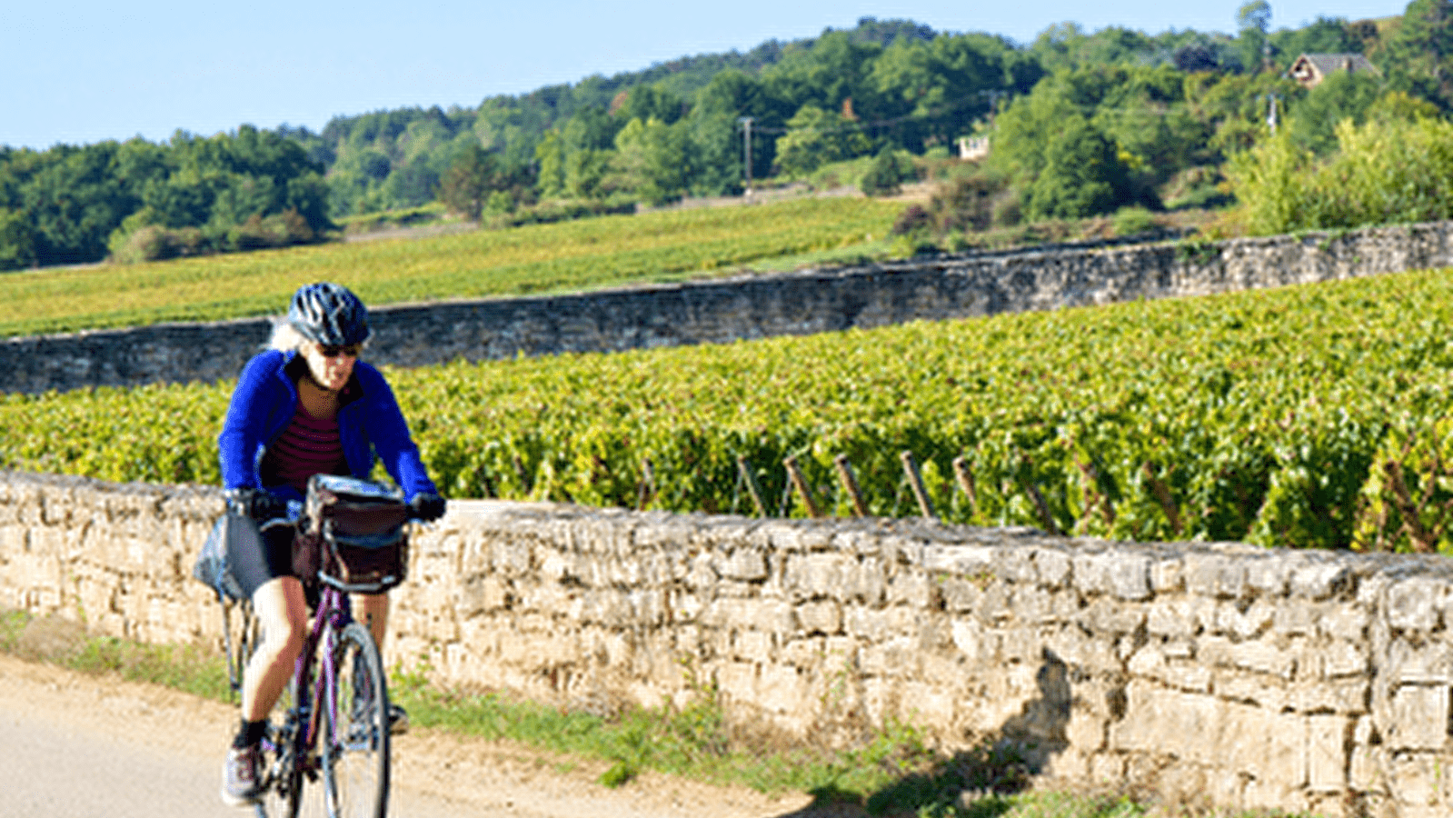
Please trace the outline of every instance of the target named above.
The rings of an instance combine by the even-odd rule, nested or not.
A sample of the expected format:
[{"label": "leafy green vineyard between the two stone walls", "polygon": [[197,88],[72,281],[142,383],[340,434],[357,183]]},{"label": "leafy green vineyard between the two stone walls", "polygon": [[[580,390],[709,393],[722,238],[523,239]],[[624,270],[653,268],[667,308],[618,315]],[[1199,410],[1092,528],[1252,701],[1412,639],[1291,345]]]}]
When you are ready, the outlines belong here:
[{"label": "leafy green vineyard between the two stone walls", "polygon": [[[918,323],[389,378],[452,497],[917,514],[1138,540],[1436,551],[1453,535],[1453,276]],[[0,401],[0,465],[216,482],[230,384]],[[953,461],[963,458],[963,478]]]}]

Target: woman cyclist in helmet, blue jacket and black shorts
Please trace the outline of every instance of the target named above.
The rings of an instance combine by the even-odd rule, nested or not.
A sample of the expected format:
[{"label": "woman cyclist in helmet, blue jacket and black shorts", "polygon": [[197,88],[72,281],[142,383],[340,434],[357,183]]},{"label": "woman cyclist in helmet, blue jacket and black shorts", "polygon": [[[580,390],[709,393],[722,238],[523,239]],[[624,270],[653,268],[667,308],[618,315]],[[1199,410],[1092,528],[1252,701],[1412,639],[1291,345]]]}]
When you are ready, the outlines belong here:
[{"label": "woman cyclist in helmet, blue jacket and black shorts", "polygon": [[[218,437],[222,485],[234,507],[259,523],[285,517],[304,498],[308,478],[366,478],[375,458],[404,490],[414,516],[434,520],[445,501],[429,479],[418,448],[378,369],[360,362],[371,334],[368,309],[336,283],[298,289],[272,343],[247,362]],[[267,712],[292,677],[308,631],[302,581],[292,570],[292,526],[267,526],[251,542],[228,543],[228,564],[253,600],[262,644],[243,674],[243,718],[222,769],[222,801],[257,801],[259,741]],[[384,644],[388,594],[362,597],[363,620]],[[392,732],[407,728],[391,708]]]}]

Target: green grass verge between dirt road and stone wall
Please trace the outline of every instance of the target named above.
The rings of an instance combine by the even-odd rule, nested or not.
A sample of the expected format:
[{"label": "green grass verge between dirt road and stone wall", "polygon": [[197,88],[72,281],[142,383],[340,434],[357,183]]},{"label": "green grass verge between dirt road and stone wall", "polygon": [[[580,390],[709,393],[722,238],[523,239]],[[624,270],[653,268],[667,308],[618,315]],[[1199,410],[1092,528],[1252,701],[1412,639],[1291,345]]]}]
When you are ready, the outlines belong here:
[{"label": "green grass verge between dirt road and stone wall", "polygon": [[[222,657],[203,645],[145,645],[87,635],[58,617],[0,612],[0,652],[87,674],[118,674],[214,700],[231,700]],[[619,708],[590,713],[514,699],[461,693],[430,684],[423,673],[395,671],[391,697],[421,728],[507,740],[578,758],[604,760],[606,786],[642,770],[769,793],[804,792],[817,805],[862,805],[869,815],[914,818],[1138,818],[1123,796],[1027,792],[1027,772],[1013,750],[976,747],[950,756],[930,750],[908,725],[889,725],[847,751],[770,747],[734,734],[715,690],[697,689],[684,708]],[[572,769],[574,763],[556,763]]]}]

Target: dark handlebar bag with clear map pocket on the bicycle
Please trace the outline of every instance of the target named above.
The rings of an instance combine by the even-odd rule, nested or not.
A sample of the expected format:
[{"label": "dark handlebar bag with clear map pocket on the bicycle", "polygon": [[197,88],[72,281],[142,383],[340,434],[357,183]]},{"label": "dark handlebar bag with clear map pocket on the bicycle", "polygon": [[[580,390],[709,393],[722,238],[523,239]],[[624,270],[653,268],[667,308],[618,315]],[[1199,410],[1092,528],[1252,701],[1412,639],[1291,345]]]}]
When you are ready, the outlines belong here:
[{"label": "dark handlebar bag with clear map pocket on the bicycle", "polygon": [[317,577],[350,593],[382,593],[404,581],[408,506],[402,490],[352,477],[312,475],[305,514],[308,523],[294,545],[299,577]]}]

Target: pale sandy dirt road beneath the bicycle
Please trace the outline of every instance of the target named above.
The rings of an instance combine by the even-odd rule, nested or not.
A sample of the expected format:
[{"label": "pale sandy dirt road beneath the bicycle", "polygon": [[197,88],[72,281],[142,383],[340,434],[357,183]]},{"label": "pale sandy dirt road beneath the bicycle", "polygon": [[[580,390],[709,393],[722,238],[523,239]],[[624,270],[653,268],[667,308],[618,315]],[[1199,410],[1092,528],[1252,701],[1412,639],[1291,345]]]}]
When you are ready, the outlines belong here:
[{"label": "pale sandy dirt road beneath the bicycle", "polygon": [[[235,710],[170,689],[0,657],[0,815],[250,815],[218,801]],[[416,728],[395,740],[400,818],[809,818],[767,798],[645,774],[596,783],[604,764]]]}]

